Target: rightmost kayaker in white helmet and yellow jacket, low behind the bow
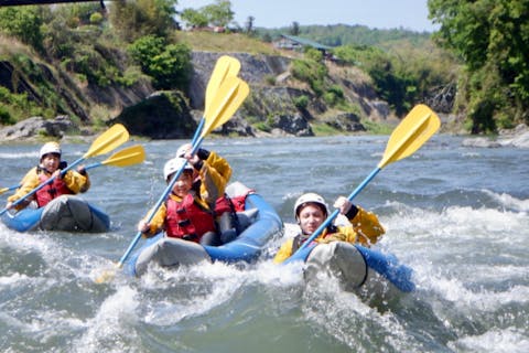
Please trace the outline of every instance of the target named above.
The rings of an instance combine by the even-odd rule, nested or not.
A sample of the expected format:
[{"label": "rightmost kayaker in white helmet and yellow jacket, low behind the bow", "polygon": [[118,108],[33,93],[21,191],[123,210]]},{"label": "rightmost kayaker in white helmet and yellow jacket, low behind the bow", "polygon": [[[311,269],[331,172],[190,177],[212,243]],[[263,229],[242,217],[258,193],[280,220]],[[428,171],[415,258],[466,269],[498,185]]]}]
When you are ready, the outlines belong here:
[{"label": "rightmost kayaker in white helmet and yellow jacket, low behind the bow", "polygon": [[[377,243],[379,237],[386,232],[376,214],[354,205],[344,196],[336,199],[334,206],[349,220],[352,225],[336,226],[332,224],[315,238],[316,243],[347,242],[370,246]],[[276,264],[283,263],[292,256],[327,218],[327,204],[319,194],[303,194],[294,204],[294,216],[301,232],[280,247],[273,258]]]}]

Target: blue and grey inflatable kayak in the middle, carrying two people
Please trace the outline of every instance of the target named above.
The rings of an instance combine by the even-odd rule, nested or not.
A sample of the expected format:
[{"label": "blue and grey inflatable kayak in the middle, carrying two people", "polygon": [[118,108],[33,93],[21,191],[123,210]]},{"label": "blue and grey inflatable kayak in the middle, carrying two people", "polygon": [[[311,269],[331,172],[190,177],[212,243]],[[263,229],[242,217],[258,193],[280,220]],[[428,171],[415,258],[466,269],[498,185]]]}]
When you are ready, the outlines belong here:
[{"label": "blue and grey inflatable kayak in the middle, carrying two people", "polygon": [[248,194],[245,211],[237,217],[244,231],[229,243],[219,246],[203,246],[194,242],[165,237],[163,233],[149,238],[125,264],[129,275],[141,276],[149,264],[162,267],[179,267],[201,261],[252,263],[276,235],[282,233],[283,224],[277,212],[257,193],[249,192],[241,183],[226,189],[230,197]]}]

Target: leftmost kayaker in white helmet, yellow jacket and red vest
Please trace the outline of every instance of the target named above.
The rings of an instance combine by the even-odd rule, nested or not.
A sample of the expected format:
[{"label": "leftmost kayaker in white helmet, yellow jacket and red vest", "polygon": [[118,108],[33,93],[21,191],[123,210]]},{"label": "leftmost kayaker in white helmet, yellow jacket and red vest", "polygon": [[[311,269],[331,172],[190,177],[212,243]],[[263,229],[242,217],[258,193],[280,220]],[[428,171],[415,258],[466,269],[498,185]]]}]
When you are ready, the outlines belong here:
[{"label": "leftmost kayaker in white helmet, yellow jacket and red vest", "polygon": [[64,195],[86,192],[90,188],[90,180],[83,165],[77,171],[68,170],[61,175],[62,169],[66,168],[66,162],[61,160],[62,150],[57,142],[46,142],[39,152],[39,165],[32,168],[22,179],[21,186],[17,192],[8,197],[6,208],[13,207],[13,203],[51,178],[53,182],[40,189],[33,195],[23,202],[17,204],[15,208],[26,207],[32,201],[36,202],[37,207],[45,206],[50,201]]}]

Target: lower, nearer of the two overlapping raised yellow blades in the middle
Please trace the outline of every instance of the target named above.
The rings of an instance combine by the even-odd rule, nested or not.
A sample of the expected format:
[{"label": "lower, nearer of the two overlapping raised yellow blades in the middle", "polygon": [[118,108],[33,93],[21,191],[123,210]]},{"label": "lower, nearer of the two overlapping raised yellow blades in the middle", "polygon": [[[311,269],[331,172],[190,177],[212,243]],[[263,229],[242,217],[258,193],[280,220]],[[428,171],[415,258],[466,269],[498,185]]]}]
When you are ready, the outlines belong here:
[{"label": "lower, nearer of the two overlapping raised yellow blades in the middle", "polygon": [[212,130],[228,121],[249,93],[250,88],[246,82],[234,76],[226,77],[218,87],[210,109],[204,116],[206,122],[201,137],[205,137]]}]

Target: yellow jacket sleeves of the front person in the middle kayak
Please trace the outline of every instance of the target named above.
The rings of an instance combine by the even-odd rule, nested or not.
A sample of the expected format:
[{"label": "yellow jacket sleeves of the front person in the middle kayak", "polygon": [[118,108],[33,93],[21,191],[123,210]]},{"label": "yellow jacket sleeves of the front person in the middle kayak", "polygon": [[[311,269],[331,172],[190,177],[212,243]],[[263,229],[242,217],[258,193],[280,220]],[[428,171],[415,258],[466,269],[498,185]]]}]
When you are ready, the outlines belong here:
[{"label": "yellow jacket sleeves of the front person in the middle kayak", "polygon": [[[198,174],[201,188],[199,194],[194,195],[194,201],[206,210],[215,210],[215,203],[218,197],[224,195],[226,185],[231,176],[231,167],[229,167],[229,163],[224,158],[210,151],[209,156],[202,164]],[[181,197],[172,193],[169,197],[177,202],[182,201]],[[168,207],[165,203],[163,203],[152,217],[149,234],[147,234],[147,236],[155,235],[163,229],[166,214]]]}]

